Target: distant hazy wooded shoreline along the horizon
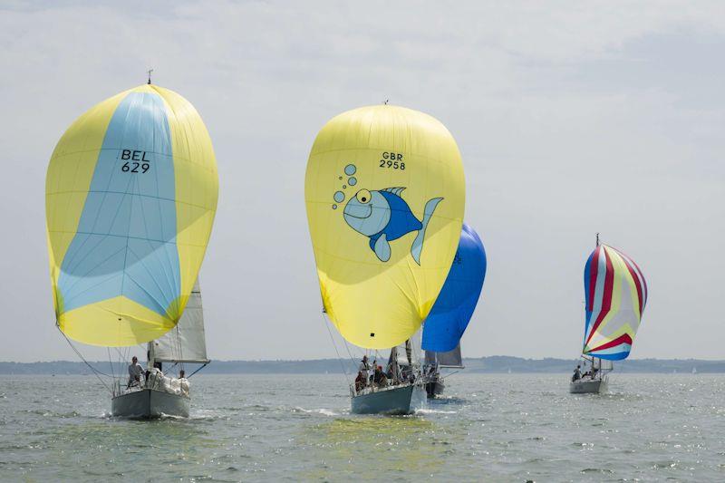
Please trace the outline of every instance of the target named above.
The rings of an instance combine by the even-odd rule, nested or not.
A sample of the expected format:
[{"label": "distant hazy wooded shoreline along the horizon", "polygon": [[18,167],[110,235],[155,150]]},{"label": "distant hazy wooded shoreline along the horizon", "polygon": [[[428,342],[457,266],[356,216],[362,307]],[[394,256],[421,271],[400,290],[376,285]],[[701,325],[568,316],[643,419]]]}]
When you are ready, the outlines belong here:
[{"label": "distant hazy wooded shoreline along the horizon", "polygon": [[[488,356],[464,359],[467,373],[561,373],[572,372],[577,359],[524,359],[512,356]],[[108,361],[91,362],[101,372],[111,373]],[[193,371],[194,364],[185,364],[187,372]],[[314,359],[302,361],[212,361],[204,369],[207,374],[324,374],[325,372],[355,372],[357,362],[346,359]],[[614,362],[616,372],[638,373],[725,373],[725,361],[706,361],[699,359],[631,359]],[[114,362],[112,372],[126,372],[126,364]],[[83,362],[0,362],[0,374],[3,375],[73,375],[90,374],[91,370]]]}]

